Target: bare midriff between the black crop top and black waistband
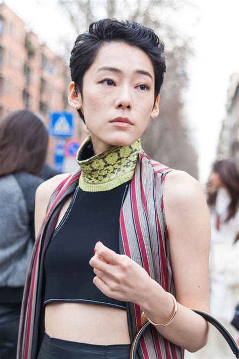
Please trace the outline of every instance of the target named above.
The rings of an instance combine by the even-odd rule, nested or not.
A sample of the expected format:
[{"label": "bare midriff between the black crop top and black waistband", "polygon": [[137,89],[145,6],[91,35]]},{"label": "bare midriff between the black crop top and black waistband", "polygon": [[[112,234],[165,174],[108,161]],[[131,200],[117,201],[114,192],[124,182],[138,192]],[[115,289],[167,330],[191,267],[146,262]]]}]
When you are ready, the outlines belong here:
[{"label": "bare midriff between the black crop top and black waistband", "polygon": [[88,303],[49,303],[45,332],[51,338],[81,343],[130,344],[126,310]]}]

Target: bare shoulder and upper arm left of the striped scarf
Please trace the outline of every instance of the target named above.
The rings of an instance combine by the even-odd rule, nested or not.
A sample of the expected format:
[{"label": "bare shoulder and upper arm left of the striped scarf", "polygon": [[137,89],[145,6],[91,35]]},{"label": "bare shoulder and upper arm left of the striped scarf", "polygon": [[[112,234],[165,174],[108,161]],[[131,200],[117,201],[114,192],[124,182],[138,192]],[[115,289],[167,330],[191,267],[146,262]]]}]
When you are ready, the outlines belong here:
[{"label": "bare shoulder and upper arm left of the striped scarf", "polygon": [[36,190],[35,197],[35,236],[37,238],[38,232],[46,216],[46,209],[51,194],[54,189],[67,178],[69,174],[56,175],[47,181],[40,184]]}]

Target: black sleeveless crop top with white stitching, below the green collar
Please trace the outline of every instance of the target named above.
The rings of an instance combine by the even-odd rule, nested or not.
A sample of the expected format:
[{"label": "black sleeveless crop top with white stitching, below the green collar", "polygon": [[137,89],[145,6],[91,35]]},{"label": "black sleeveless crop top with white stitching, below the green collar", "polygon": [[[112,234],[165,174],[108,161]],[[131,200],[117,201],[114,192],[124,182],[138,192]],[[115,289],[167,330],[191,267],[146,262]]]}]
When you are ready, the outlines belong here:
[{"label": "black sleeveless crop top with white stitching, below the green collar", "polygon": [[94,285],[89,261],[98,240],[119,252],[120,211],[130,182],[101,192],[76,188],[46,249],[44,304],[72,301],[126,309],[125,302],[107,297]]}]

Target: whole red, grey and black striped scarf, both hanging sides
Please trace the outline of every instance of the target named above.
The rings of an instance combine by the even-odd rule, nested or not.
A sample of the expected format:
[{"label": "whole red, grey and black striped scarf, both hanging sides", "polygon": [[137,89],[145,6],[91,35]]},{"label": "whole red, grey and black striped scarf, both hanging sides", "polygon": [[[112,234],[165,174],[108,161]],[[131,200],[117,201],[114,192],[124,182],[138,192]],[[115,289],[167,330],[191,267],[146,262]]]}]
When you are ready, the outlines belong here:
[{"label": "whole red, grey and black striped scarf, both hanging sides", "polygon": [[[139,153],[135,173],[126,194],[119,228],[120,254],[126,254],[141,265],[163,289],[174,294],[170,264],[169,237],[163,206],[163,184],[171,169]],[[55,189],[50,198],[47,215],[33,248],[26,278],[18,338],[17,359],[36,359],[40,341],[40,319],[43,315],[41,298],[44,253],[56,226],[66,198],[78,185],[80,169]],[[138,304],[127,302],[128,328],[131,341],[143,326]],[[150,326],[137,352],[138,359],[182,359],[184,350]]]}]

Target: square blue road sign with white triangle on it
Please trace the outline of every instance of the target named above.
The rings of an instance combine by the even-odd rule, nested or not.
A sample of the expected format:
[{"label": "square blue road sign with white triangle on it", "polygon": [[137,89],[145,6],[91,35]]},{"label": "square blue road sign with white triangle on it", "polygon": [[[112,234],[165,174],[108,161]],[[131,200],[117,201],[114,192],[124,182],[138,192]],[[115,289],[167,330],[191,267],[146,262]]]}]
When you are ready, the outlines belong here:
[{"label": "square blue road sign with white triangle on it", "polygon": [[52,112],[49,118],[51,137],[69,138],[74,134],[73,114],[69,112]]}]

